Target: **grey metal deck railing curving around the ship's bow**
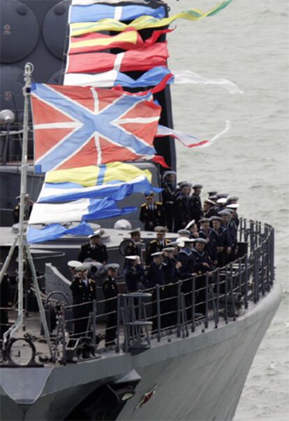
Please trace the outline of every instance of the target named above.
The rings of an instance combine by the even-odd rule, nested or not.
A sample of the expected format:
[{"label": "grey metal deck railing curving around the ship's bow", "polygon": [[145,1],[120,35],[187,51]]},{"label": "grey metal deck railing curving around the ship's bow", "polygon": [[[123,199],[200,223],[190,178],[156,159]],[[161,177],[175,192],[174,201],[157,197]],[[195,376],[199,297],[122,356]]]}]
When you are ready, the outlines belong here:
[{"label": "grey metal deck railing curving around the ship's bow", "polygon": [[[194,275],[141,292],[119,294],[117,299],[94,300],[77,306],[57,305],[57,334],[52,335],[52,362],[99,358],[103,334],[111,331],[109,350],[143,352],[151,341],[165,337],[186,338],[198,327],[207,329],[220,322],[234,322],[251,304],[267,294],[274,283],[274,228],[269,224],[240,219],[239,242],[247,252],[222,268]],[[113,311],[98,308],[114,302]],[[89,306],[89,316],[73,317],[75,308]],[[103,319],[110,320],[109,326]],[[73,325],[83,321],[83,331]],[[68,338],[69,336],[69,338]]]}]

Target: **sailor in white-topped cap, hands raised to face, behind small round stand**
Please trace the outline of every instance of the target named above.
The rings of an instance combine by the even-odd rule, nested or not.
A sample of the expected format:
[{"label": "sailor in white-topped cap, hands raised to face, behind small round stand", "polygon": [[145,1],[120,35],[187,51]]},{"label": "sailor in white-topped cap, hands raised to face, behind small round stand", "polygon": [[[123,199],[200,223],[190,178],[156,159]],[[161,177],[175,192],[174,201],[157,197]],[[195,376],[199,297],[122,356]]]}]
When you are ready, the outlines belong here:
[{"label": "sailor in white-topped cap, hands raised to face, behind small round stand", "polygon": [[145,273],[144,267],[140,262],[140,256],[126,256],[127,264],[124,269],[124,279],[126,280],[126,290],[128,292],[137,292],[144,290]]}]

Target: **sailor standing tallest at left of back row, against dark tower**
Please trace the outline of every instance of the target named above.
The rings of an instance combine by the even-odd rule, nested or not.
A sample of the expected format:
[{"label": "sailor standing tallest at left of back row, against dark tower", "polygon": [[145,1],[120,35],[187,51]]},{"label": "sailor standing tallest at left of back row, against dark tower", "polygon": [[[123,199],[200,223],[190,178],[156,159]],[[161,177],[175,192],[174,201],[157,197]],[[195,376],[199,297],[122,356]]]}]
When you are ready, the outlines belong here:
[{"label": "sailor standing tallest at left of back row, against dark tower", "polygon": [[163,173],[163,206],[165,208],[165,215],[167,217],[168,230],[172,232],[174,222],[174,206],[175,206],[175,192],[176,192],[176,177],[175,171],[165,171]]}]

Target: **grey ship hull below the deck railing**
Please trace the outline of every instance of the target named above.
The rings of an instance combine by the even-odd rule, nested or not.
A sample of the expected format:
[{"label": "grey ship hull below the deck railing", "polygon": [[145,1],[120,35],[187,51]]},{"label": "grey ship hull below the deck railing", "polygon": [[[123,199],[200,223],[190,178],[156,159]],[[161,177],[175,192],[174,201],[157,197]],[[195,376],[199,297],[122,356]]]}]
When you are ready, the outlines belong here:
[{"label": "grey ship hull below the deck railing", "polygon": [[[265,332],[281,301],[274,284],[235,322],[188,338],[151,341],[139,355],[105,352],[101,359],[43,369],[1,369],[1,420],[63,420],[91,390],[128,373],[140,376],[118,420],[232,420]],[[144,394],[155,393],[140,406]]]}]

